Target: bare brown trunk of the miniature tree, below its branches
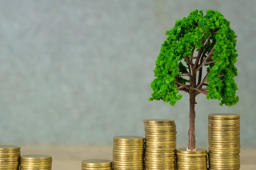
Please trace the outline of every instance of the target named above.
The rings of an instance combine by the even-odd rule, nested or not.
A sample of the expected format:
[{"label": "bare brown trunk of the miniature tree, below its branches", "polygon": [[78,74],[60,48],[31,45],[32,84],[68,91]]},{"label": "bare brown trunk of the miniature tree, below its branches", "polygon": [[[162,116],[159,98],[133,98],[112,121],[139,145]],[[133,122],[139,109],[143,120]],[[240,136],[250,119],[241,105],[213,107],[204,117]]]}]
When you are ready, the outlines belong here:
[{"label": "bare brown trunk of the miniature tree, below its branches", "polygon": [[189,130],[188,130],[188,150],[196,149],[196,135],[195,135],[195,103],[196,95],[194,90],[189,91]]}]

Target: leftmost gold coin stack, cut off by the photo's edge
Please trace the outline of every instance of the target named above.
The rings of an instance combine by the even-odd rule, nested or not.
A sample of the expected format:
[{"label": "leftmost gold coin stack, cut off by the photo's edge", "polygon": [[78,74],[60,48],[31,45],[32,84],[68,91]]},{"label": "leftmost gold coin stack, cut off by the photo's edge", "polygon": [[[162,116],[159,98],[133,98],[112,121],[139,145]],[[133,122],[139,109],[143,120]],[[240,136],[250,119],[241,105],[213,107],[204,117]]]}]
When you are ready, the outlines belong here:
[{"label": "leftmost gold coin stack, cut off by the photo's edge", "polygon": [[19,169],[20,147],[0,145],[0,169]]}]

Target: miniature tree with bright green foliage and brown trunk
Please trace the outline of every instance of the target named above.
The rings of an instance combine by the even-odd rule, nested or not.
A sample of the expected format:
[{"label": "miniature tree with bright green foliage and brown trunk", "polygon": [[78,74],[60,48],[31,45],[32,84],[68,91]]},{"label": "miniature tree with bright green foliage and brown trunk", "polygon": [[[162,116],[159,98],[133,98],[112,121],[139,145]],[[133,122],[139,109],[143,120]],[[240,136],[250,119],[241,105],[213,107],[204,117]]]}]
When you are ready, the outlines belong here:
[{"label": "miniature tree with bright green foliage and brown trunk", "polygon": [[[156,60],[156,78],[151,83],[154,92],[149,100],[163,100],[173,106],[182,98],[179,90],[189,94],[188,150],[195,150],[196,96],[204,94],[226,106],[239,101],[233,79],[238,74],[234,65],[237,36],[230,29],[230,22],[213,10],[207,10],[205,16],[202,11],[191,11],[187,18],[177,20],[166,35]],[[194,51],[198,51],[197,56]]]}]

